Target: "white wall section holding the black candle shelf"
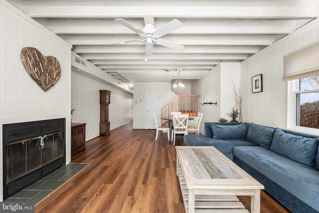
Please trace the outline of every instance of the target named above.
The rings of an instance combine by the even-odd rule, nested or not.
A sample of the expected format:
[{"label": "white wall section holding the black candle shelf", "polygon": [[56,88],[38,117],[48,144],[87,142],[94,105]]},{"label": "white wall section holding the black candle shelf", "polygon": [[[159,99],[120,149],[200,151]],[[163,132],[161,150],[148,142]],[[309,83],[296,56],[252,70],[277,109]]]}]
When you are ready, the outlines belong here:
[{"label": "white wall section holding the black candle shelf", "polygon": [[192,84],[191,94],[201,95],[201,100],[217,99],[217,104],[200,104],[203,113],[200,133],[204,134],[204,122],[217,122],[223,117],[230,121],[229,113],[234,105],[233,84],[240,83],[240,63],[220,63],[208,75]]}]

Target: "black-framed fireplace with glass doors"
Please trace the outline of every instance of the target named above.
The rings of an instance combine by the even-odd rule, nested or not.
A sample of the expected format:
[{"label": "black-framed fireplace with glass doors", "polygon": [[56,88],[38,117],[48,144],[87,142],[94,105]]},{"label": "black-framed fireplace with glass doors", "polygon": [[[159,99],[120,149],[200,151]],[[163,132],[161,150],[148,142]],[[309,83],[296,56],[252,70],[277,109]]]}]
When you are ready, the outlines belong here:
[{"label": "black-framed fireplace with glass doors", "polygon": [[3,200],[65,165],[65,118],[5,124]]}]

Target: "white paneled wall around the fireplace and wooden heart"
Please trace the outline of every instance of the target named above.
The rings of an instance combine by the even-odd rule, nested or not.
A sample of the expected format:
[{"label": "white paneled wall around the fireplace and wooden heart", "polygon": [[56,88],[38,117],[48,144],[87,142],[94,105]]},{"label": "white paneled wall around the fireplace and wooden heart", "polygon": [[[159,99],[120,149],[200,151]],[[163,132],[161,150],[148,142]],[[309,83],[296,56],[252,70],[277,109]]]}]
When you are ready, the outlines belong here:
[{"label": "white paneled wall around the fireplace and wooden heart", "polygon": [[[0,126],[9,123],[66,118],[70,123],[71,45],[0,0]],[[20,60],[23,47],[35,47],[61,65],[61,77],[47,92],[33,82]],[[70,130],[66,128],[66,162],[70,162]],[[2,127],[0,128],[2,138]],[[2,145],[0,146],[2,159]],[[2,164],[0,182],[2,183]],[[3,185],[0,185],[2,201]]]}]

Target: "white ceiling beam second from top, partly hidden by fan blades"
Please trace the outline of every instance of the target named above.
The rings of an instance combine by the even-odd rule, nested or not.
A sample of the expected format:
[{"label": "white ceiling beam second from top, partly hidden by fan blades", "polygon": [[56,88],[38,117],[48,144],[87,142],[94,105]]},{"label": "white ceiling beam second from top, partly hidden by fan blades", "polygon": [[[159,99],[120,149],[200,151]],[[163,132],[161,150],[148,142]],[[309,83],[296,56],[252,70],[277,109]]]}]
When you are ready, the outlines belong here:
[{"label": "white ceiling beam second from top, partly hidden by fan blades", "polygon": [[[297,28],[296,19],[179,19],[183,26],[169,34],[287,34]],[[144,27],[142,20],[128,20],[137,28]],[[159,19],[155,28],[170,20]],[[131,29],[113,21],[102,19],[49,19],[48,28],[56,34],[136,34]]]}]

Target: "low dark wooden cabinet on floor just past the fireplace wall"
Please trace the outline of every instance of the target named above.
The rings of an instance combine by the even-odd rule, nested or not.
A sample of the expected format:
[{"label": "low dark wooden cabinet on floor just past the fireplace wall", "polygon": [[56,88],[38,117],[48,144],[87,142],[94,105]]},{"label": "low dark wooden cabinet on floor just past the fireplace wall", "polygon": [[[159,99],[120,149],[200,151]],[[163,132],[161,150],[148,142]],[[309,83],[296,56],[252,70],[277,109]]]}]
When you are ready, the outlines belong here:
[{"label": "low dark wooden cabinet on floor just past the fireplace wall", "polygon": [[72,123],[71,156],[85,149],[85,123]]}]

